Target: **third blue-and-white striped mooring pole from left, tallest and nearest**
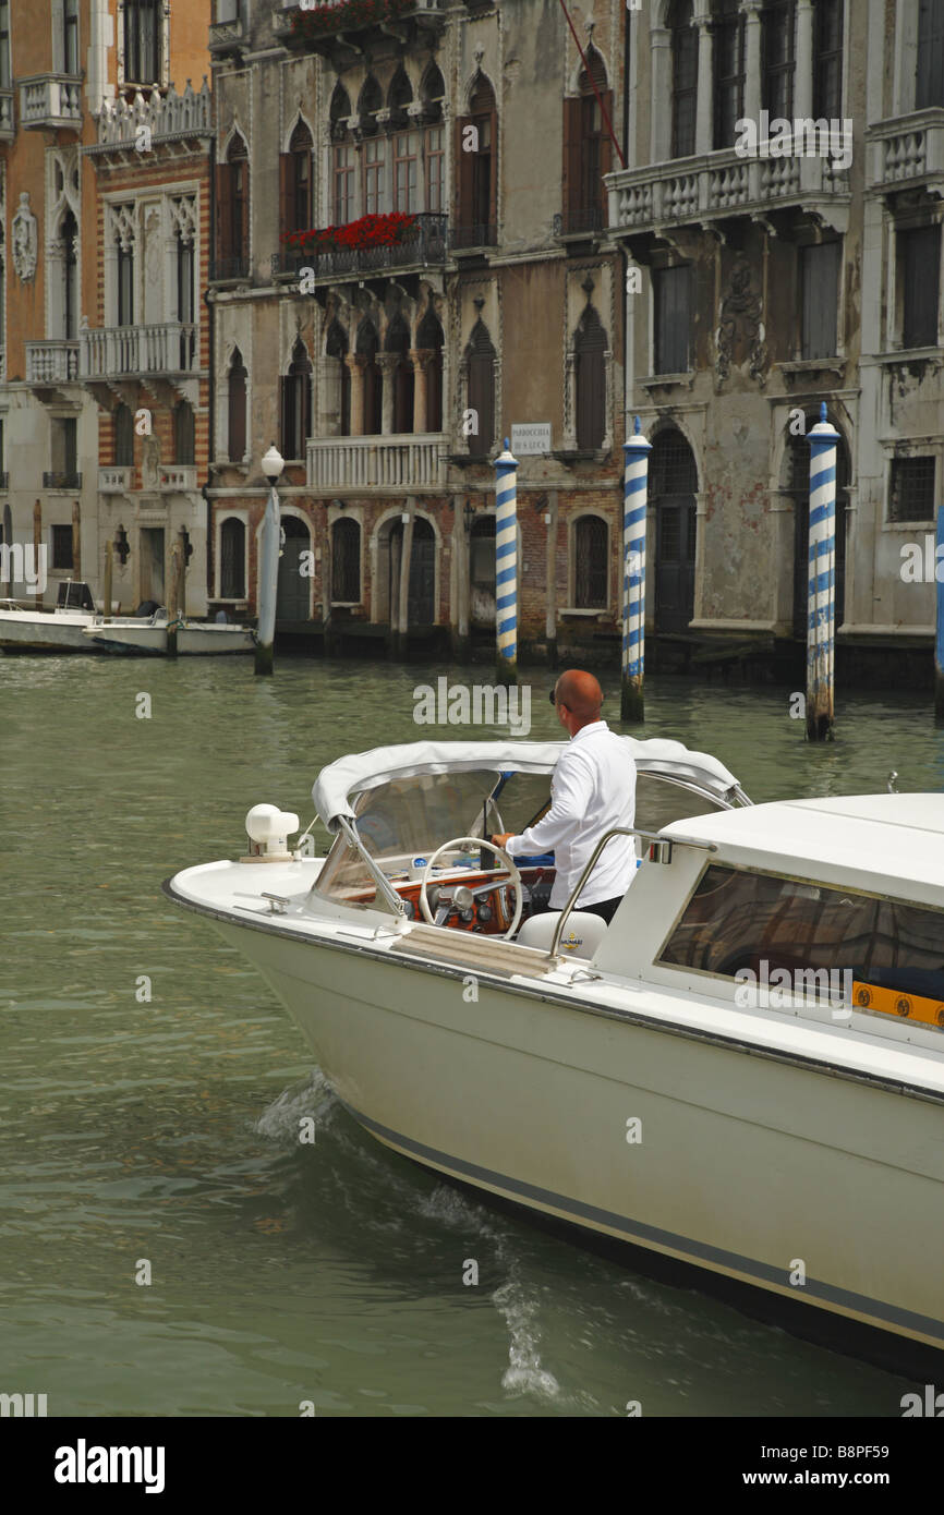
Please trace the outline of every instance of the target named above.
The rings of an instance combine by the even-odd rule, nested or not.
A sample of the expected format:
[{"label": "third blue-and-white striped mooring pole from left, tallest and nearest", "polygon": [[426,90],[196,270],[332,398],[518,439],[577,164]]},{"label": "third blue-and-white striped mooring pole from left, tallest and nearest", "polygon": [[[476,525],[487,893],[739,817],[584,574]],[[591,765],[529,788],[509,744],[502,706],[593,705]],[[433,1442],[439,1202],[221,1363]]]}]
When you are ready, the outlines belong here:
[{"label": "third blue-and-white striped mooring pole from left, tallest and nearest", "polygon": [[806,627],[806,739],[832,741],[836,645],[836,442],[820,420],[809,433],[809,571]]}]

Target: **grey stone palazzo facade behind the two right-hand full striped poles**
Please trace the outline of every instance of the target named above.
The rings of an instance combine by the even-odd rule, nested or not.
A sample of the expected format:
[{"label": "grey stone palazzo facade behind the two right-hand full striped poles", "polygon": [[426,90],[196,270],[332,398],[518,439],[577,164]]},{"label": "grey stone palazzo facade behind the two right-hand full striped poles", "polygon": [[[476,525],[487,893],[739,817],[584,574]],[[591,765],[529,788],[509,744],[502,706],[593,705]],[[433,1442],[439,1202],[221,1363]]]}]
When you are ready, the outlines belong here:
[{"label": "grey stone palazzo facade behind the two right-hand full striped poles", "polygon": [[[630,159],[608,179],[611,232],[636,270],[627,411],[689,465],[686,488],[650,488],[650,627],[797,667],[802,433],[824,401],[841,433],[839,667],[870,653],[896,680],[923,680],[933,583],[903,579],[902,550],[933,533],[944,474],[944,76],[923,74],[918,36],[941,8],[661,0],[630,24]],[[765,68],[774,55],[779,71]],[[762,144],[779,115],[847,123],[850,159],[791,138],[783,156],[735,150],[733,117],[756,121]],[[673,277],[689,280],[683,361],[671,336],[661,350]]]}]

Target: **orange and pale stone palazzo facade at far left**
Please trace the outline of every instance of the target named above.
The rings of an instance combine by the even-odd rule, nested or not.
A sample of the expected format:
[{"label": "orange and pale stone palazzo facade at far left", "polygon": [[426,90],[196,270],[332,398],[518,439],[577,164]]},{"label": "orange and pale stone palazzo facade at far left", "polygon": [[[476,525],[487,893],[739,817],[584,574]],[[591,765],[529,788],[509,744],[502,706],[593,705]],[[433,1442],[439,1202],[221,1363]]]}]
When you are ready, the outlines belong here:
[{"label": "orange and pale stone palazzo facade at far left", "polygon": [[[11,0],[8,8],[8,32],[0,38],[0,523],[3,541],[47,547],[48,583],[41,597],[47,604],[70,577],[86,579],[98,598],[105,541],[121,527],[127,556],[115,556],[112,597],[123,611],[152,592],[164,598],[171,536],[186,526],[194,547],[188,608],[200,612],[206,608],[205,508],[194,488],[200,467],[206,476],[200,411],[206,417],[208,394],[206,385],[186,386],[203,459],[197,451],[185,474],[164,477],[174,461],[168,417],[180,398],[174,374],[182,367],[179,344],[171,342],[171,329],[177,335],[168,282],[173,227],[164,209],[180,195],[197,197],[195,235],[206,241],[209,94],[186,89],[177,97],[173,80],[206,73],[211,3],[155,8],[153,47],[147,27],[132,24],[135,3],[52,0],[36,9],[30,0]],[[144,11],[150,15],[152,8]],[[139,52],[126,48],[127,36],[139,39]],[[152,95],[155,86],[159,92]],[[138,136],[136,145],[142,126],[150,135]],[[155,255],[148,264],[142,259],[144,241],[136,245],[138,236],[148,235],[145,201],[156,264]],[[135,259],[133,309],[120,333],[109,314],[117,238]],[[205,280],[206,256],[200,265],[197,253],[197,320]],[[206,342],[206,323],[200,339]],[[192,368],[189,356],[186,365]],[[147,389],[139,382],[142,370]],[[203,370],[209,373],[206,347]],[[129,468],[114,467],[120,398],[155,415],[155,435],[133,439]],[[153,479],[147,498],[141,494],[145,464]],[[180,492],[182,482],[186,489]],[[144,506],[150,508],[147,521]],[[142,541],[144,524],[150,535]],[[26,598],[23,585],[8,580],[2,588]]]}]

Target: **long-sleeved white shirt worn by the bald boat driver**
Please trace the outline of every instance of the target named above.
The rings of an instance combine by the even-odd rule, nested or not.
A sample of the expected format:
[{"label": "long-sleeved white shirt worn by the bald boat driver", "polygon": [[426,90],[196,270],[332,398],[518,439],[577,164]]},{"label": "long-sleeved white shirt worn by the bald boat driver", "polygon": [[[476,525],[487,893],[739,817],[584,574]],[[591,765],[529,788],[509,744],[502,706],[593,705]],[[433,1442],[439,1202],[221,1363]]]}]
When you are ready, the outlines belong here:
[{"label": "long-sleeved white shirt worn by the bald boat driver", "polygon": [[[636,814],[636,765],[624,736],[606,721],[582,726],[561,753],[550,780],[550,811],[508,844],[512,857],[555,853],[550,906],[564,909],[589,856],[611,826],[632,826]],[[636,874],[632,836],[614,836],[597,859],[576,901],[599,904],[626,894]]]}]

